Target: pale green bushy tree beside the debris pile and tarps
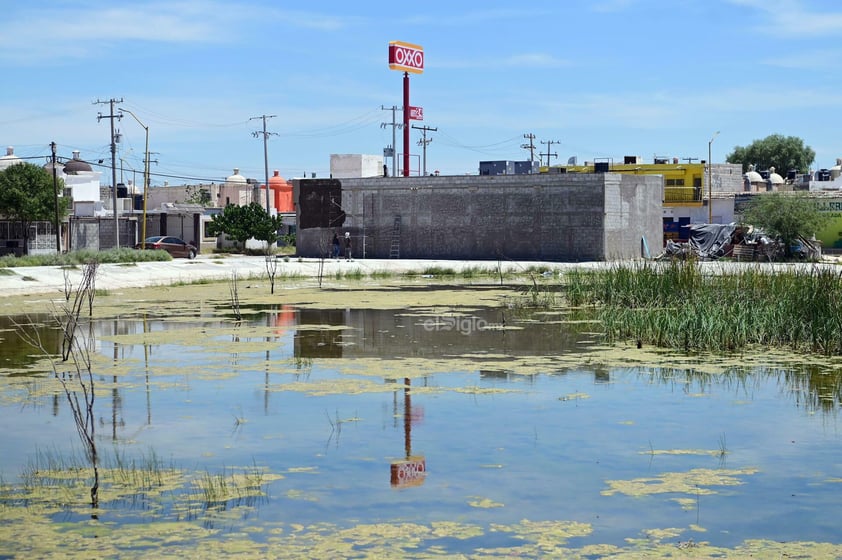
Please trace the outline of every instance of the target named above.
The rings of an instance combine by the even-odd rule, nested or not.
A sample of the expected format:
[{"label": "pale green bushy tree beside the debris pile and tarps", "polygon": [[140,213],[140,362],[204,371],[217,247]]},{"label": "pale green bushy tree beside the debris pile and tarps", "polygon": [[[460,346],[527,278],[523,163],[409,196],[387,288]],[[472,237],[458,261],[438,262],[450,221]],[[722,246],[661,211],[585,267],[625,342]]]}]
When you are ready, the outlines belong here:
[{"label": "pale green bushy tree beside the debris pile and tarps", "polygon": [[815,200],[803,192],[754,195],[742,218],[744,223],[780,238],[786,257],[792,256],[792,245],[799,237],[811,237],[828,220],[828,216],[819,211]]}]

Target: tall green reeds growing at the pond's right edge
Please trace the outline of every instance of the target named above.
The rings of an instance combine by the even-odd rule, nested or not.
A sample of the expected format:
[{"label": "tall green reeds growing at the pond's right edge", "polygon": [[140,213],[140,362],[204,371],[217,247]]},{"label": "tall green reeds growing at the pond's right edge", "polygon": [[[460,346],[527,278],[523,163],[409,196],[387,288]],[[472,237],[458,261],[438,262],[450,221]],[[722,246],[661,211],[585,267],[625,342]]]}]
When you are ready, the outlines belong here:
[{"label": "tall green reeds growing at the pond's right edge", "polygon": [[842,354],[842,276],[747,268],[705,276],[694,263],[567,273],[567,301],[593,306],[609,340],[689,351],[760,345]]}]

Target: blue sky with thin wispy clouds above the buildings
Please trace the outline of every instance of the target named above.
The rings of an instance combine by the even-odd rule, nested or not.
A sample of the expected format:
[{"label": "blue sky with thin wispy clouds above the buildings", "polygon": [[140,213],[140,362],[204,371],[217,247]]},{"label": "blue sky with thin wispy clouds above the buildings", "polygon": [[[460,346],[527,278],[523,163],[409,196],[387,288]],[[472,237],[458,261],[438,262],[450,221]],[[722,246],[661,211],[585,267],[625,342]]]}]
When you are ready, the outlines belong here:
[{"label": "blue sky with thin wispy clouds above the buildings", "polygon": [[[153,185],[239,168],[326,177],[330,154],[382,154],[402,74],[389,41],[424,48],[411,75],[427,171],[638,155],[714,162],[769,134],[798,136],[814,168],[842,157],[842,4],[831,0],[104,0],[9,2],[0,19],[0,145],[21,157],[110,161],[108,105],[149,127]],[[400,118],[400,117],[399,117]],[[127,115],[124,173],[145,135]],[[420,130],[411,153],[420,156]],[[403,144],[398,132],[398,150]],[[421,167],[419,158],[412,166]],[[390,166],[391,170],[391,166]],[[190,179],[183,179],[190,178]],[[110,171],[104,183],[110,183]],[[194,180],[195,179],[195,180]],[[119,179],[118,179],[119,180]]]}]

